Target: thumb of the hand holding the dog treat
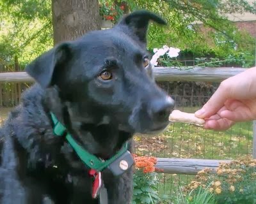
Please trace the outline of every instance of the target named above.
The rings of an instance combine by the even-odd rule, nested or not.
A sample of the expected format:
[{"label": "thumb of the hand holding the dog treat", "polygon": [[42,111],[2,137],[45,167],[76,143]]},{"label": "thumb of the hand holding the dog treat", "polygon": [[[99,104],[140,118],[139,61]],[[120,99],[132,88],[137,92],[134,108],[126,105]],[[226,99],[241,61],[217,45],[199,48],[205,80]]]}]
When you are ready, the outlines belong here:
[{"label": "thumb of the hand holding the dog treat", "polygon": [[195,112],[196,117],[205,119],[207,117],[211,117],[215,113],[217,113],[220,108],[224,106],[225,101],[228,99],[228,90],[227,88],[220,85],[216,92],[211,96],[209,101],[205,103],[205,105]]}]

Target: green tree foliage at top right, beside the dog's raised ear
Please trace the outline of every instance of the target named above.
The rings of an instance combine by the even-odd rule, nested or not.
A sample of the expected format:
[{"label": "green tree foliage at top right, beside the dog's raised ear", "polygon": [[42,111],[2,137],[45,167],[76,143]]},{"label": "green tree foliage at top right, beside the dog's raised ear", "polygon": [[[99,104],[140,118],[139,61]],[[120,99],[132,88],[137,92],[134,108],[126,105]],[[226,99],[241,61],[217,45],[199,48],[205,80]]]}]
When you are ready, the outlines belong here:
[{"label": "green tree foliage at top right, beside the dog's raised ear", "polygon": [[[150,25],[148,48],[170,45],[181,49],[191,48],[202,50],[214,48],[217,52],[234,52],[236,45],[237,52],[250,50],[254,52],[255,40],[246,33],[237,31],[225,15],[228,13],[245,11],[256,13],[256,7],[244,0],[151,0],[141,1],[127,0],[131,10],[148,9],[163,16],[168,26],[161,27],[156,24]],[[208,33],[201,31],[201,25],[195,22],[202,22]],[[218,38],[221,36],[221,43]],[[232,43],[230,43],[232,41]]]}]

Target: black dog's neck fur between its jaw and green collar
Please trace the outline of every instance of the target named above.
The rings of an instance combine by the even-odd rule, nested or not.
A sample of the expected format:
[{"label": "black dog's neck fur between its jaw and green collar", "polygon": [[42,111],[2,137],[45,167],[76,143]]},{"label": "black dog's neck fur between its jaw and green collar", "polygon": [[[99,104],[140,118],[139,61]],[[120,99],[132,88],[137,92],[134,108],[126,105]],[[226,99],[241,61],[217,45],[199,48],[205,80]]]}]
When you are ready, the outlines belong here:
[{"label": "black dog's neck fur between its jaw and green collar", "polygon": [[[60,93],[56,88],[45,91],[42,98],[42,106],[44,106],[49,120],[51,120],[50,112],[53,112],[74,140],[90,154],[98,157],[103,157],[104,159],[111,157],[132,136],[132,133],[120,131],[118,123],[109,122],[106,116],[102,116],[102,120],[96,124],[71,121],[72,113],[68,111],[68,102],[61,99]],[[99,151],[97,149],[101,148],[93,147],[93,144],[96,146],[97,144],[102,145],[102,149],[104,149],[104,146],[106,148]]]}]

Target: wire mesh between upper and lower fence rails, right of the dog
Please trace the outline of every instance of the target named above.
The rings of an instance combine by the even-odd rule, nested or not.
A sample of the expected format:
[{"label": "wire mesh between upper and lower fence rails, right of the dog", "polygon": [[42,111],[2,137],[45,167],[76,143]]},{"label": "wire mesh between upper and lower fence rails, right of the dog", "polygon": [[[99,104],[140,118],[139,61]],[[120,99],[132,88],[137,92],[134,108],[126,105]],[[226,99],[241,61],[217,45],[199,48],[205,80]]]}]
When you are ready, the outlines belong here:
[{"label": "wire mesh between upper and lower fence rails, right of the dog", "polygon": [[[218,83],[161,83],[176,101],[176,108],[195,112],[216,91]],[[252,154],[252,122],[241,122],[227,131],[210,131],[189,124],[173,123],[161,135],[136,138],[136,150],[157,157],[236,159]]]}]

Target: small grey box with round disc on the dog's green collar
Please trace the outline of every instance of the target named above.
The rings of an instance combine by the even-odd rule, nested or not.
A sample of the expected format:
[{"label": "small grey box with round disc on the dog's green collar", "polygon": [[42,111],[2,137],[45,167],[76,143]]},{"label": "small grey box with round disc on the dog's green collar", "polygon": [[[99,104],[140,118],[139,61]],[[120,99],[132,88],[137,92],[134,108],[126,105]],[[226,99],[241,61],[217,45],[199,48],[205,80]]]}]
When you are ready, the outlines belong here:
[{"label": "small grey box with round disc on the dog's green collar", "polygon": [[122,154],[122,156],[118,157],[113,163],[109,164],[108,169],[113,173],[114,176],[118,177],[122,175],[126,170],[131,168],[133,165],[133,157],[131,152],[128,150]]}]

